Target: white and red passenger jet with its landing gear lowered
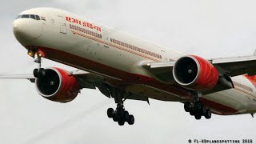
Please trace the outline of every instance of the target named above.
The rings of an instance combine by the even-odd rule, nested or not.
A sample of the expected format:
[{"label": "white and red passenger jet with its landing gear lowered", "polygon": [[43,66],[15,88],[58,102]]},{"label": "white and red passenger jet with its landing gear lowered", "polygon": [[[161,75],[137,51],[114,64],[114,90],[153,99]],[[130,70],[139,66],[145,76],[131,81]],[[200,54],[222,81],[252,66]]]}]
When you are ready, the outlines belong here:
[{"label": "white and red passenger jet with its landing gear lowered", "polygon": [[[142,38],[111,29],[65,10],[34,8],[18,14],[14,36],[38,63],[33,74],[2,74],[29,79],[38,94],[71,102],[83,88],[114,98],[107,116],[118,125],[134,124],[126,99],[182,102],[197,120],[213,114],[256,112],[256,54],[205,59],[181,54]],[[72,66],[42,68],[42,58]]]}]

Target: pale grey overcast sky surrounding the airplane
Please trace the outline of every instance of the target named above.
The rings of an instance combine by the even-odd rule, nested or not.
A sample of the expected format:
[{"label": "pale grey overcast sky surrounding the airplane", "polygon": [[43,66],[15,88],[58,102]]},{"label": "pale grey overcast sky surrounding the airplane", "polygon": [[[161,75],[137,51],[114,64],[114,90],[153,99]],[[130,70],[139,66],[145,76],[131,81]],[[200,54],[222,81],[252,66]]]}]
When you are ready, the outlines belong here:
[{"label": "pale grey overcast sky surrounding the airplane", "polygon": [[[2,2],[0,74],[31,73],[33,58],[14,38],[12,23],[23,10],[48,6],[167,46],[184,54],[219,58],[253,54],[256,1],[246,0],[45,0]],[[70,67],[43,61],[44,67]],[[213,115],[197,121],[178,102],[126,101],[134,126],[107,118],[114,99],[82,90],[73,102],[50,102],[26,80],[0,81],[0,143],[188,143],[188,139],[242,139],[256,142],[249,114]]]}]

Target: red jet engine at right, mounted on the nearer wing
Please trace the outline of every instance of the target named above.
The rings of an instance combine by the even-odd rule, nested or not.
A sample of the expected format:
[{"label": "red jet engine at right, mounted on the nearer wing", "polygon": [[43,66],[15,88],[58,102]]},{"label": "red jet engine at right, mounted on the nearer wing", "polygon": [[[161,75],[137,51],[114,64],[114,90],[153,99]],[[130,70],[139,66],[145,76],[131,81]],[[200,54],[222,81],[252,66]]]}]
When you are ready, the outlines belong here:
[{"label": "red jet engine at right, mounted on the nearer wing", "polygon": [[218,70],[195,55],[179,58],[174,64],[173,75],[178,84],[193,90],[210,90],[218,82]]}]

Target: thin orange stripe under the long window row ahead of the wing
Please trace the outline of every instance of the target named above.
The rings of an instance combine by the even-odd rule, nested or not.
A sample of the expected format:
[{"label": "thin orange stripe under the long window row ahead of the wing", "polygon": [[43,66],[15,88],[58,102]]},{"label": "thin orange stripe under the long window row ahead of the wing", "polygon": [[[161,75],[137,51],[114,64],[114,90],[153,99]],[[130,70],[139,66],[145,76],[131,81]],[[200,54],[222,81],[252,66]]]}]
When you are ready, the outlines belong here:
[{"label": "thin orange stripe under the long window row ahead of the wing", "polygon": [[[71,30],[71,31],[72,31],[72,30]],[[96,42],[101,42],[101,43],[103,43],[103,44],[106,44],[106,45],[109,45],[109,46],[113,46],[113,47],[115,47],[115,48],[118,48],[119,50],[124,50],[124,51],[126,51],[126,52],[128,52],[128,53],[136,54],[136,55],[138,55],[138,56],[140,56],[140,57],[143,57],[143,58],[148,58],[148,59],[150,59],[150,60],[153,60],[154,62],[160,62],[160,61],[158,61],[158,60],[156,60],[156,59],[154,59],[154,58],[150,58],[150,57],[147,57],[147,56],[145,56],[145,55],[138,54],[138,53],[136,53],[136,52],[134,52],[134,51],[131,51],[131,50],[126,50],[125,48],[122,48],[122,47],[120,47],[120,46],[115,46],[115,45],[112,45],[112,44],[110,44],[110,43],[100,41],[100,40],[98,40],[98,39],[96,39],[96,38],[92,38],[92,37],[89,37],[89,36],[87,36],[87,35],[77,33],[77,32],[75,32],[75,31],[72,31],[72,32],[73,32],[73,34],[77,34],[77,35],[80,35],[80,36],[85,37],[85,38],[90,38],[91,40],[94,40],[94,41],[96,41]]]}]

